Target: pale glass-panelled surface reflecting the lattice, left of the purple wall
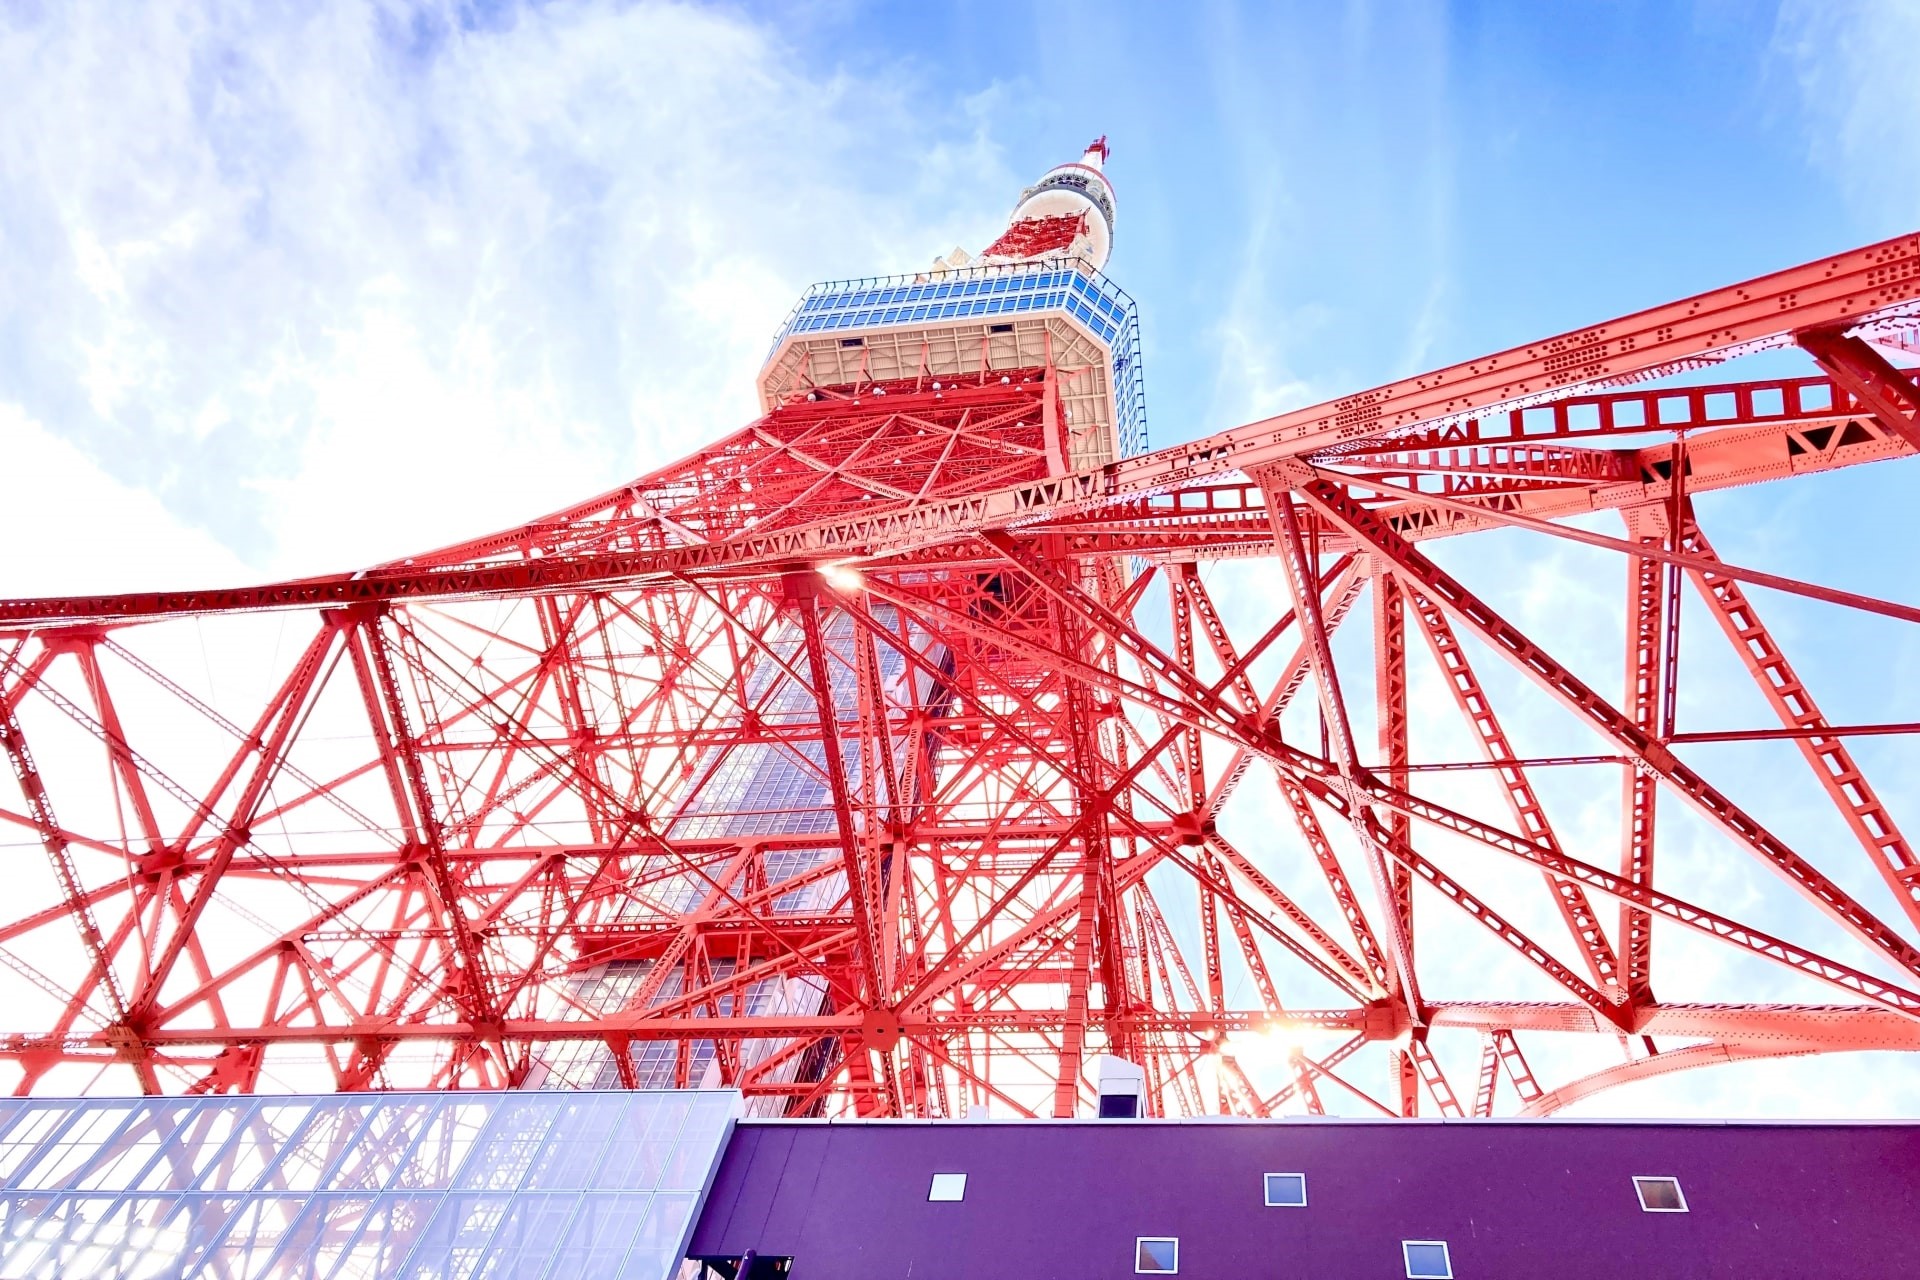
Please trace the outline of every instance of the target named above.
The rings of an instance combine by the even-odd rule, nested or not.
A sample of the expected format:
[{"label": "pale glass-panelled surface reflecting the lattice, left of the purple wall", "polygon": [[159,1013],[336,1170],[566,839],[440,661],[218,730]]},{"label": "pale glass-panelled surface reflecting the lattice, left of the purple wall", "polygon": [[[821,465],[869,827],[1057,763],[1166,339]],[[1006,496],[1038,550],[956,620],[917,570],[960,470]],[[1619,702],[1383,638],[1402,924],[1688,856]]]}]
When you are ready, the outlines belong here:
[{"label": "pale glass-panelled surface reflecting the lattice, left of the purple wall", "polygon": [[674,1274],[732,1092],[0,1103],[4,1276]]}]

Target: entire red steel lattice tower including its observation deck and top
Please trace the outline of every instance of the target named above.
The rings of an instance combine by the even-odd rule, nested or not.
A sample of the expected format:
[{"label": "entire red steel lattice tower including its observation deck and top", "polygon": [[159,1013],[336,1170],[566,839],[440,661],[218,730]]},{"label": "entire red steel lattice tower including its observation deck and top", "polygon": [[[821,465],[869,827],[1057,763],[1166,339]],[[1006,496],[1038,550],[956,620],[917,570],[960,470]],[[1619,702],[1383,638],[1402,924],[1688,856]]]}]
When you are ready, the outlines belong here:
[{"label": "entire red steel lattice tower including its observation deck and top", "polygon": [[[566,510],[0,601],[0,1084],[1073,1115],[1112,1054],[1160,1115],[1540,1115],[1920,1050],[1920,864],[1849,747],[1920,725],[1830,723],[1755,597],[1920,608],[1695,520],[1920,449],[1920,234],[1146,451],[1104,161],[814,288],[758,420]],[[1770,347],[1816,368],[1693,372]],[[1613,557],[1617,631],[1469,587],[1496,532]],[[1776,723],[1680,731],[1682,639]]]}]

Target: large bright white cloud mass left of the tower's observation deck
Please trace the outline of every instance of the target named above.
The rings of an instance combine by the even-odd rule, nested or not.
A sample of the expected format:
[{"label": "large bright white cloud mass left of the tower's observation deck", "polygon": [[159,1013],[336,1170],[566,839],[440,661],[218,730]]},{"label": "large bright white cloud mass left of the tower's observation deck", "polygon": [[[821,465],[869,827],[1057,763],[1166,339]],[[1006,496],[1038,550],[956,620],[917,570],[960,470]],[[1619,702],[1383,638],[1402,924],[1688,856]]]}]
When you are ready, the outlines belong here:
[{"label": "large bright white cloud mass left of the tower's observation deck", "polygon": [[964,107],[722,12],[468,17],[0,17],[0,399],[255,576],[355,566],[739,426],[812,278],[1018,188]]}]

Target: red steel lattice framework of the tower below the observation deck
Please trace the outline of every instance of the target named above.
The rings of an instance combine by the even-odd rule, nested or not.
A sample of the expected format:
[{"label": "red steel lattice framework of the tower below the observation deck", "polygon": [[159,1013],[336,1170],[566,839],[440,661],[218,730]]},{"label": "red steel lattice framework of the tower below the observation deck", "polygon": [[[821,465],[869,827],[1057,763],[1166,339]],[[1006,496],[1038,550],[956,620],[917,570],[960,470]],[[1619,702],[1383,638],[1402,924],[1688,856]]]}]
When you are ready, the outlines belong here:
[{"label": "red steel lattice framework of the tower below the observation deck", "polygon": [[[1893,816],[1740,583],[1903,620],[1920,610],[1726,566],[1690,516],[1697,493],[1912,453],[1910,378],[1836,326],[1891,322],[1916,297],[1920,238],[1903,238],[1079,474],[1046,436],[1052,370],[1004,386],[820,388],[632,486],[365,574],[0,603],[0,628],[13,628],[0,631],[0,725],[23,796],[0,806],[0,825],[31,835],[63,883],[58,900],[0,919],[0,946],[79,925],[90,958],[58,975],[0,958],[61,1009],[0,1038],[0,1061],[19,1067],[23,1090],[61,1063],[129,1065],[150,1090],[259,1088],[309,1046],[336,1088],[367,1088],[401,1082],[407,1054],[424,1050],[430,1086],[503,1086],[526,1082],[543,1046],[591,1040],[632,1086],[636,1046],[670,1040],[678,1082],[691,1046],[712,1044],[720,1079],[797,1113],[948,1115],[968,1096],[1073,1113],[1085,1057],[1108,1048],[1144,1059],[1162,1113],[1261,1115],[1338,1098],[1411,1113],[1423,1086],[1442,1113],[1465,1111],[1428,1048],[1463,1032],[1484,1036],[1475,1113],[1501,1094],[1546,1111],[1734,1057],[1920,1048],[1920,996],[1903,984],[1910,940],[1672,754],[1688,737],[1672,725],[1684,576],[1920,923]],[[1832,376],[1605,390],[1786,342]],[[1607,509],[1628,514],[1630,539],[1553,524]],[[1620,708],[1413,549],[1486,528],[1634,557]],[[1267,606],[1242,637],[1250,601],[1215,599],[1196,564],[1244,555],[1281,558],[1290,608]],[[1133,578],[1131,557],[1158,557],[1162,572]],[[864,580],[828,589],[822,568]],[[1377,764],[1356,748],[1331,643],[1369,583]],[[1154,585],[1167,591],[1169,643],[1142,620]],[[499,603],[499,618],[465,601]],[[236,714],[119,629],[290,606],[321,606],[319,626],[276,691]],[[829,618],[849,626],[833,633],[845,651]],[[1513,831],[1415,794],[1442,766],[1413,758],[1409,624]],[[1453,628],[1599,729],[1607,760],[1632,762],[1626,808],[1644,796],[1645,819],[1628,823],[1619,875],[1565,852]],[[902,674],[885,676],[883,658]],[[1319,754],[1281,729],[1308,679],[1327,725]],[[801,710],[774,697],[783,685],[806,693]],[[854,689],[851,712],[841,685]],[[156,747],[140,710],[152,691],[227,743],[205,775]],[[326,758],[313,727],[342,727],[342,691],[357,706],[357,758]],[[61,791],[65,760],[27,752],[29,735],[48,737],[36,716],[92,743],[106,810],[65,798],[84,794]],[[682,835],[676,814],[720,796],[739,752],[772,752],[818,783],[829,823]],[[1229,833],[1256,762],[1275,771],[1311,883]],[[1659,787],[1901,981],[1661,890]],[[348,833],[300,827],[321,812]],[[1327,816],[1367,862],[1371,912]],[[300,831],[280,841],[284,823]],[[1465,864],[1442,865],[1434,833],[1540,871],[1567,938],[1528,936]],[[801,869],[772,869],[781,860]],[[1423,996],[1415,883],[1572,1000]],[[818,910],[780,908],[835,885]],[[697,906],[674,906],[689,887]],[[267,889],[298,912],[267,923],[248,906]],[[1590,892],[1620,904],[1615,938]],[[1156,894],[1194,894],[1194,935],[1183,936],[1196,917],[1162,912]],[[1340,921],[1317,915],[1321,894]],[[1665,1006],[1653,919],[1868,1004]],[[248,921],[263,942],[217,946],[211,921]],[[624,1007],[570,986],[607,965],[645,967]],[[1235,969],[1252,1007],[1235,998]],[[818,1011],[741,1013],[766,983],[814,984]],[[1313,996],[1296,996],[1304,983]],[[1352,1007],[1315,1007],[1327,992]],[[1221,1054],[1261,1029],[1344,1038],[1290,1050],[1275,1080],[1244,1055]],[[1517,1038],[1622,1031],[1699,1044],[1544,1088]],[[749,1046],[766,1052],[755,1061]],[[1398,1107],[1342,1075],[1365,1046],[1384,1050]],[[810,1075],[793,1075],[803,1061]]]}]

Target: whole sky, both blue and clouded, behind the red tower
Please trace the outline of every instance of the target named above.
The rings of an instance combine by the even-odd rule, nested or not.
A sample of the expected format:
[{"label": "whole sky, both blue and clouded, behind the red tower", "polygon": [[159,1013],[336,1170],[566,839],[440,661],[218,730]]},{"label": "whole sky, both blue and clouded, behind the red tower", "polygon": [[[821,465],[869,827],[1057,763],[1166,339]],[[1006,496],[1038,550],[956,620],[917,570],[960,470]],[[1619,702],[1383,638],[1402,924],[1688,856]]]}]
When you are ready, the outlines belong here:
[{"label": "whole sky, both blue and clouded, behind the red tower", "polygon": [[[1891,2],[12,4],[0,595],[349,568],[605,489],[753,415],[806,284],[979,249],[1102,132],[1156,443],[1363,390],[1912,230],[1916,40]],[[1910,486],[1703,514],[1914,599]],[[1619,612],[1597,553],[1476,566],[1523,620]],[[1920,704],[1905,629],[1768,618],[1836,720]],[[1682,720],[1763,722],[1697,689]],[[1912,1063],[1847,1071],[1920,1111]],[[1638,1105],[1730,1098],[1674,1088]]]}]

